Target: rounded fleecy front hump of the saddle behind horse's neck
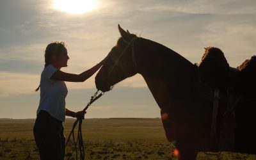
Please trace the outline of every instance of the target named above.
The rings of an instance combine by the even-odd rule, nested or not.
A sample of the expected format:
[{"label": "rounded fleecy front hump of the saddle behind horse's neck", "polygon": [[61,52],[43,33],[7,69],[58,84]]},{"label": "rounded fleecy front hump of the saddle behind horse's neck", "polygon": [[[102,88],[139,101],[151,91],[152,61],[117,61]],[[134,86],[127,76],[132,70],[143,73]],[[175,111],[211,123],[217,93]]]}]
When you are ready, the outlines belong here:
[{"label": "rounded fleecy front hump of the saddle behind horse's neck", "polygon": [[224,53],[217,47],[206,47],[198,74],[202,83],[214,88],[225,88],[228,83],[229,65]]}]

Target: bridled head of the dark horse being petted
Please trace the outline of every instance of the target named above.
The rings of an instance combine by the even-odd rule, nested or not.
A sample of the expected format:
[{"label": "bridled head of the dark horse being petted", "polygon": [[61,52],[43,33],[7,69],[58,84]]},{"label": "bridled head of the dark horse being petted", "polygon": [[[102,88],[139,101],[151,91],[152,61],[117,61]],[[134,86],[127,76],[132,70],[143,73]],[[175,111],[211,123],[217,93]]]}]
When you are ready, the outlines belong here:
[{"label": "bridled head of the dark horse being petted", "polygon": [[128,30],[124,31],[119,24],[118,29],[121,37],[95,77],[96,87],[102,92],[108,92],[114,84],[137,73],[133,47],[138,37],[130,34]]}]

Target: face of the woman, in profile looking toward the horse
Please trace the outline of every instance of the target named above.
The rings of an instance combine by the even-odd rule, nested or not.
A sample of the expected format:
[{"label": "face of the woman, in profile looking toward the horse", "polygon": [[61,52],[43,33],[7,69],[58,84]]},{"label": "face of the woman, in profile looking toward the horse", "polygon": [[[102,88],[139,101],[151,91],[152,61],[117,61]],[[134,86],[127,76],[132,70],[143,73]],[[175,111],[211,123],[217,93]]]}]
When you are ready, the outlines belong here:
[{"label": "face of the woman, in profile looking toward the horse", "polygon": [[54,67],[58,69],[60,69],[61,67],[67,67],[68,60],[69,57],[67,49],[63,49],[63,51],[61,51],[60,54],[58,54],[58,56],[54,56],[52,58],[52,65],[54,65]]}]

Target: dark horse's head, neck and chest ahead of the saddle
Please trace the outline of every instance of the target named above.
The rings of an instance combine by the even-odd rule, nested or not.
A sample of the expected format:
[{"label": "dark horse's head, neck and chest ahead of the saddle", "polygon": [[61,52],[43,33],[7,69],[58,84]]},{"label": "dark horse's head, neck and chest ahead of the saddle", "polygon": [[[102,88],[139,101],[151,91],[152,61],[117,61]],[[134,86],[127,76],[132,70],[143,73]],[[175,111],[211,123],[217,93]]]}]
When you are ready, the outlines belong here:
[{"label": "dark horse's head, neck and chest ahead of the saddle", "polygon": [[166,138],[175,141],[179,159],[196,159],[198,151],[218,151],[218,141],[210,136],[212,102],[195,93],[197,67],[168,47],[119,25],[118,29],[122,37],[95,77],[97,89],[108,92],[114,84],[141,74],[161,109]]}]

